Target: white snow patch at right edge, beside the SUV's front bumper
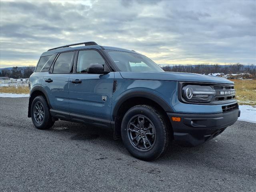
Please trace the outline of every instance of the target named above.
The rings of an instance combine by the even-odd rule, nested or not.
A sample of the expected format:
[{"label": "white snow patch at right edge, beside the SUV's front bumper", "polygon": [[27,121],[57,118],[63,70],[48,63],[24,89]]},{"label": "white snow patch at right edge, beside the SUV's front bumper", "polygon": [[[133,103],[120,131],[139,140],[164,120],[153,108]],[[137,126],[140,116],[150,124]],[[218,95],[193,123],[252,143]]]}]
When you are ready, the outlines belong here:
[{"label": "white snow patch at right edge, beside the SUV's front bumper", "polygon": [[239,109],[241,114],[238,120],[256,123],[256,106],[240,105]]}]

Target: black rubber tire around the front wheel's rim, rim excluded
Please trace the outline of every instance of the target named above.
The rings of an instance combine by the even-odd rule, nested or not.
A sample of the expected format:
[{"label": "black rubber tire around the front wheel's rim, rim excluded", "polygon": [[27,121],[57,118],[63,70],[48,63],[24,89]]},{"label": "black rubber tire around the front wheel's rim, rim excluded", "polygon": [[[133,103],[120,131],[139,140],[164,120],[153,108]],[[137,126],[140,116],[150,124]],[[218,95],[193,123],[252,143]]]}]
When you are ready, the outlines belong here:
[{"label": "black rubber tire around the front wheel's rim, rim excluded", "polygon": [[[130,119],[135,115],[143,115],[149,118],[152,123],[154,124],[155,130],[156,130],[156,140],[155,144],[152,149],[146,152],[142,152],[140,150],[137,150],[132,146],[130,143],[128,133],[127,133],[127,127],[128,122]],[[159,156],[159,154],[162,153],[162,150],[164,148],[164,140],[165,140],[165,133],[163,129],[163,122],[162,120],[149,108],[143,107],[143,106],[135,106],[128,110],[126,114],[124,115],[124,118],[122,120],[121,124],[121,135],[122,135],[122,141],[124,143],[124,146],[126,149],[136,158],[142,159],[142,160],[152,160]]]}]

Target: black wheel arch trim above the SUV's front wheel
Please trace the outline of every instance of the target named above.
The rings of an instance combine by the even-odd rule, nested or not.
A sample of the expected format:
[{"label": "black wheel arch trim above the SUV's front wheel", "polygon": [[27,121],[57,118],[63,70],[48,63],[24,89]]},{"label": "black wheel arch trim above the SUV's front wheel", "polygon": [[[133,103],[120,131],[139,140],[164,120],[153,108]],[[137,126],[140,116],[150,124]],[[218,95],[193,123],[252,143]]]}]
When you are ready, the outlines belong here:
[{"label": "black wheel arch trim above the SUV's front wheel", "polygon": [[135,97],[142,97],[142,98],[147,98],[147,99],[153,100],[159,106],[161,106],[165,112],[173,112],[171,106],[166,101],[164,101],[162,98],[157,96],[156,94],[153,94],[153,93],[150,93],[147,91],[132,91],[132,92],[129,92],[129,93],[123,95],[120,99],[118,99],[118,102],[114,106],[114,110],[113,110],[113,114],[112,114],[113,119],[115,119],[115,117],[118,115],[118,110],[120,109],[122,104],[126,100],[128,100],[130,98],[135,98]]}]

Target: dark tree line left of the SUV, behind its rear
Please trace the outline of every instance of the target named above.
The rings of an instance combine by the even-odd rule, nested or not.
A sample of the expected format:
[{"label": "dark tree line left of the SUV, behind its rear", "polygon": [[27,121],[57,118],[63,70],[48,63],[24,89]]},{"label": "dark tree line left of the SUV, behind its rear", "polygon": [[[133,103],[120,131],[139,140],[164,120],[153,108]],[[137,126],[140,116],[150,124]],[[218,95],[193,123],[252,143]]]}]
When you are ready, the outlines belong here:
[{"label": "dark tree line left of the SUV, behind its rear", "polygon": [[28,67],[13,67],[12,69],[2,69],[0,71],[1,77],[10,77],[14,79],[18,78],[29,78],[30,75],[34,72],[36,67],[28,66]]}]

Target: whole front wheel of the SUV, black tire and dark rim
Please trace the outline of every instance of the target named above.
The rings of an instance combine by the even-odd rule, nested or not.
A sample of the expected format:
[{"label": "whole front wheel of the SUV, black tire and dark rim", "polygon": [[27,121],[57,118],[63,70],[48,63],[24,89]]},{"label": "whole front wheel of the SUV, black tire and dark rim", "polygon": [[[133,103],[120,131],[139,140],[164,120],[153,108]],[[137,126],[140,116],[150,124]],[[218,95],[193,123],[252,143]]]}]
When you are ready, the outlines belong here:
[{"label": "whole front wheel of the SUV, black tire and dark rim", "polygon": [[158,158],[169,143],[164,117],[148,105],[137,105],[126,112],[122,119],[121,136],[130,154],[145,161]]}]

